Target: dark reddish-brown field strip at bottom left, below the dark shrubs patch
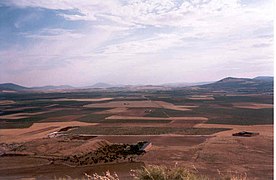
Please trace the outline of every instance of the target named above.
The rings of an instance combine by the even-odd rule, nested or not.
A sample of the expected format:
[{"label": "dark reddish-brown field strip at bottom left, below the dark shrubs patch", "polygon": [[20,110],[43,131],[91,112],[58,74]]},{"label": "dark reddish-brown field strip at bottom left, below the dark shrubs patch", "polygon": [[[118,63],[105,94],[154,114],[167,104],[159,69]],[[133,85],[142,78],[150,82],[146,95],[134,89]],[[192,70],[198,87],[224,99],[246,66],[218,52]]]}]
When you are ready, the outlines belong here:
[{"label": "dark reddish-brown field strip at bottom left, below the dark shrubs patch", "polygon": [[[4,157],[0,163],[0,174],[3,179],[84,179],[84,173],[101,174],[110,171],[112,174],[116,172],[120,180],[131,179],[130,171],[140,169],[144,166],[142,162],[103,164],[90,167],[69,167],[62,164],[50,164],[48,161],[42,161],[38,158],[30,159],[28,157]],[[40,160],[40,161],[38,161]],[[26,162],[30,167],[24,167],[21,162]],[[12,167],[13,164],[21,164],[20,167]],[[23,163],[25,164],[25,163]],[[9,167],[9,168],[7,168]],[[36,177],[36,178],[35,178]]]}]

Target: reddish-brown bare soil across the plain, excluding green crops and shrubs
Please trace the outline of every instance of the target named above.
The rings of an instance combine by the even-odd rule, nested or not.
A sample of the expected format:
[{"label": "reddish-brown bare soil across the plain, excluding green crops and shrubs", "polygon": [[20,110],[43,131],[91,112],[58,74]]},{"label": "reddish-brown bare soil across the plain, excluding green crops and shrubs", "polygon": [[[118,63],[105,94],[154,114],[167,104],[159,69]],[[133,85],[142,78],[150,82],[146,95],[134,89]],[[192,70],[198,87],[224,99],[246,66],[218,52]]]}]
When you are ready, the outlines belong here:
[{"label": "reddish-brown bare soil across the plain, excluding green crops and shrubs", "polygon": [[[257,95],[256,95],[257,96]],[[191,96],[193,100],[214,100],[209,95]],[[145,164],[174,166],[176,163],[210,177],[220,174],[237,172],[247,174],[249,179],[273,179],[273,125],[224,125],[204,124],[208,118],[194,117],[143,117],[150,108],[166,108],[180,111],[192,111],[196,105],[177,106],[163,101],[135,100],[111,101],[110,98],[96,99],[55,99],[56,101],[87,101],[93,104],[86,108],[111,108],[94,114],[110,114],[108,120],[143,120],[140,123],[84,123],[76,121],[83,115],[68,115],[44,119],[43,121],[62,121],[34,123],[29,128],[0,129],[0,154],[7,147],[12,147],[18,155],[34,154],[37,156],[66,156],[94,151],[109,143],[136,143],[137,141],[152,142],[152,147],[138,163],[118,163],[91,167],[68,167],[53,164],[47,158],[33,156],[0,157],[0,177],[3,179],[38,178],[54,179],[56,177],[79,178],[84,173],[102,173],[116,171],[122,179],[129,179],[130,169],[141,168]],[[213,102],[213,101],[212,101]],[[1,103],[1,102],[0,102]],[[3,102],[2,102],[3,103]],[[232,103],[232,102],[231,102]],[[233,105],[233,106],[232,106]],[[210,104],[219,108],[272,108],[265,103],[233,103],[229,106]],[[51,108],[51,106],[48,106]],[[63,108],[51,108],[52,111]],[[66,108],[70,110],[70,108]],[[72,108],[72,110],[75,110]],[[11,117],[32,116],[32,113],[14,114]],[[9,116],[9,115],[8,115]],[[224,117],[221,117],[224,118]],[[149,120],[170,120],[169,123],[146,123]],[[102,127],[195,127],[195,128],[229,128],[230,130],[212,135],[99,135],[92,138],[48,138],[48,134],[57,132],[68,126],[99,126]],[[240,131],[257,132],[254,137],[234,137]],[[1,149],[2,148],[2,149]],[[24,162],[24,163],[23,163]],[[143,162],[143,163],[141,163]],[[231,172],[230,172],[231,171]]]}]

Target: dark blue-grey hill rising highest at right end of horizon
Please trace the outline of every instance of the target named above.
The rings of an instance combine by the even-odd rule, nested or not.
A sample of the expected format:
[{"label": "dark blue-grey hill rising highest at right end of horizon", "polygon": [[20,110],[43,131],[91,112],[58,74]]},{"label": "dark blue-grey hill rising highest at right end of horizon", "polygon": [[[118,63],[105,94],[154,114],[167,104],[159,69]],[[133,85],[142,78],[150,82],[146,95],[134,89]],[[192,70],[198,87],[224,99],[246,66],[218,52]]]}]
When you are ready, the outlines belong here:
[{"label": "dark blue-grey hill rising highest at right end of horizon", "polygon": [[273,80],[274,78],[270,76],[260,76],[253,79],[227,77],[217,82],[201,85],[199,87],[227,92],[272,93]]}]

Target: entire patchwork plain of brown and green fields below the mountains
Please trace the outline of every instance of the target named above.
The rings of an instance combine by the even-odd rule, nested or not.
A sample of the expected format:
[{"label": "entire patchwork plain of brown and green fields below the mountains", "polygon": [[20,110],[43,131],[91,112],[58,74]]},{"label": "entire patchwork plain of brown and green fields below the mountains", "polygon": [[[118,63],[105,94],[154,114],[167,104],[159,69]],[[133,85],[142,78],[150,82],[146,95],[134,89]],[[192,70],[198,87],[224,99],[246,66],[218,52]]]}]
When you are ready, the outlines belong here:
[{"label": "entire patchwork plain of brown and green fields below the mountains", "polygon": [[[232,136],[240,131],[259,135]],[[95,155],[114,147],[126,153],[138,142],[151,147],[129,160],[112,152],[111,160]],[[219,170],[269,179],[273,95],[190,89],[1,93],[0,155],[4,178],[47,179],[62,172],[75,178],[109,169],[128,179],[130,168],[177,163],[209,177]],[[36,166],[40,170],[32,172]]]}]

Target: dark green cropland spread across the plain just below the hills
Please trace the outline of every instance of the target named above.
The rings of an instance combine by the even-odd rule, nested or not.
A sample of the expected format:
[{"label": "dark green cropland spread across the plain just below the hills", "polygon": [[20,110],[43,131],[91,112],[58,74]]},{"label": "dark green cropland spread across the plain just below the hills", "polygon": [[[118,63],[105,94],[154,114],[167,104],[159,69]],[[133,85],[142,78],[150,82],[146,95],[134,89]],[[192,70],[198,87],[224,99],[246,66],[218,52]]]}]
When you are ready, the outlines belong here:
[{"label": "dark green cropland spread across the plain just below the hills", "polygon": [[[134,91],[134,92],[70,92],[70,93],[0,93],[0,100],[14,100],[15,104],[0,105],[0,115],[12,115],[16,113],[46,112],[40,115],[32,115],[28,118],[9,120],[0,119],[0,129],[26,128],[36,122],[60,121],[62,117],[79,115],[78,121],[91,123],[169,123],[167,120],[105,120],[112,114],[95,114],[95,112],[108,110],[109,108],[84,108],[83,105],[97,102],[78,101],[53,101],[60,98],[114,98],[112,101],[122,100],[158,100],[174,105],[198,106],[190,111],[177,111],[164,108],[152,108],[146,113],[146,117],[206,117],[206,123],[215,124],[273,124],[273,108],[267,109],[244,109],[235,108],[233,103],[273,103],[273,95],[236,95],[208,92],[214,100],[190,100],[192,95],[204,95],[206,90],[171,90],[171,91]],[[54,106],[52,106],[54,105]],[[21,109],[20,108],[27,108]],[[51,111],[51,112],[47,112]],[[66,121],[66,118],[63,119]]]}]

